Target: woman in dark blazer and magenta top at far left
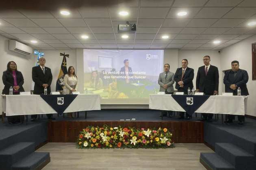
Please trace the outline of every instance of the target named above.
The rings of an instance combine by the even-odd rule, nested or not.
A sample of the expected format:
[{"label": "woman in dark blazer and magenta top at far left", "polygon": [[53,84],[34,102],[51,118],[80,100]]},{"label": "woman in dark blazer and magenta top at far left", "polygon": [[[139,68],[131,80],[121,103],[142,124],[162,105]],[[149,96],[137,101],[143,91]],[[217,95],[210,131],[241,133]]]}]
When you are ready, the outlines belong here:
[{"label": "woman in dark blazer and magenta top at far left", "polygon": [[[13,95],[20,94],[20,91],[24,91],[22,85],[24,84],[24,78],[20,71],[17,70],[17,64],[13,61],[8,62],[7,70],[3,72],[2,81],[4,83],[4,89],[2,94],[9,94],[9,89],[13,87]],[[20,123],[20,116],[8,116],[9,123]]]}]

